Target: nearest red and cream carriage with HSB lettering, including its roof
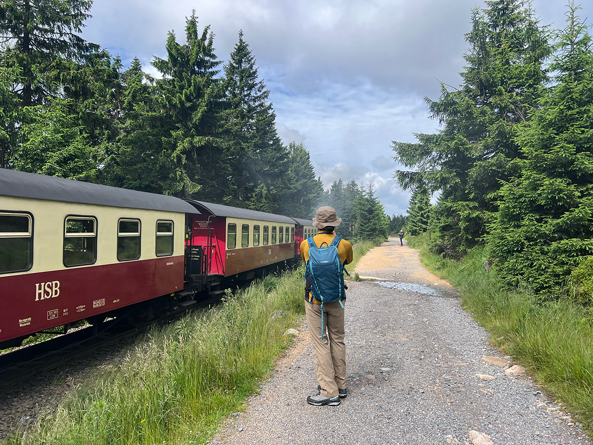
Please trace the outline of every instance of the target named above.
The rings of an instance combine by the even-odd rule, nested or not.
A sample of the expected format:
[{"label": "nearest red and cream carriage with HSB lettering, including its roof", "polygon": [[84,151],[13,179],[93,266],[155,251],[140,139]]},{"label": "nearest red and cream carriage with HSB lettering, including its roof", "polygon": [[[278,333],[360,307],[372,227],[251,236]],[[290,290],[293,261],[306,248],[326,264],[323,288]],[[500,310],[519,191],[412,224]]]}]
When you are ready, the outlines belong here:
[{"label": "nearest red and cream carriage with HSB lettering, including its roof", "polygon": [[0,169],[0,348],[183,290],[197,213],[171,196]]}]

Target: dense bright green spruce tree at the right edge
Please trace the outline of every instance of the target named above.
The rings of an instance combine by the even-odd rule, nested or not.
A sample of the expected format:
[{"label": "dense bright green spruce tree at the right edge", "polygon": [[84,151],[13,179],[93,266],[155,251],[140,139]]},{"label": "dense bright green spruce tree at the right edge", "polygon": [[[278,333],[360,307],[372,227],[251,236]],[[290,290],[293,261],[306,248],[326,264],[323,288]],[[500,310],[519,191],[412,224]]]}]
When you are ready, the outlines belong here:
[{"label": "dense bright green spruce tree at the right edge", "polygon": [[557,83],[519,127],[522,173],[502,187],[487,244],[500,281],[540,295],[593,255],[593,49],[577,10],[557,37]]}]

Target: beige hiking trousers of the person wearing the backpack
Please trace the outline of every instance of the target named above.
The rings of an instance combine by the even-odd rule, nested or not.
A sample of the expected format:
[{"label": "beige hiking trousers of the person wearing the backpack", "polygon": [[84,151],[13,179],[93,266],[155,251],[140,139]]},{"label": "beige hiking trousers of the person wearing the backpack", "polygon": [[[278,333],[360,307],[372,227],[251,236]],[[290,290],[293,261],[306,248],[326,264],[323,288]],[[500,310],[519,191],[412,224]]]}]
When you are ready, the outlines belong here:
[{"label": "beige hiking trousers of the person wearing the backpack", "polygon": [[[346,302],[343,301],[342,304]],[[305,301],[305,313],[311,342],[315,352],[315,374],[326,397],[339,395],[338,388],[346,389],[346,344],[344,342],[344,309],[340,302],[323,305],[321,340],[321,305]]]}]

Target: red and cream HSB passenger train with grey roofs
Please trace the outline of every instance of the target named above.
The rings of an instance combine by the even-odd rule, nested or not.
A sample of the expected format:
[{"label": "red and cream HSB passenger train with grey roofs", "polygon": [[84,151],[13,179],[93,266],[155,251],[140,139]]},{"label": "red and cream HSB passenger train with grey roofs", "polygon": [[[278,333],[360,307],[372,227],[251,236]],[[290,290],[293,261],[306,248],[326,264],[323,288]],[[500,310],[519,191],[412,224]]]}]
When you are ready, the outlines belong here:
[{"label": "red and cream HSB passenger train with grey roofs", "polygon": [[0,169],[0,349],[215,297],[297,262],[316,233],[311,220]]}]

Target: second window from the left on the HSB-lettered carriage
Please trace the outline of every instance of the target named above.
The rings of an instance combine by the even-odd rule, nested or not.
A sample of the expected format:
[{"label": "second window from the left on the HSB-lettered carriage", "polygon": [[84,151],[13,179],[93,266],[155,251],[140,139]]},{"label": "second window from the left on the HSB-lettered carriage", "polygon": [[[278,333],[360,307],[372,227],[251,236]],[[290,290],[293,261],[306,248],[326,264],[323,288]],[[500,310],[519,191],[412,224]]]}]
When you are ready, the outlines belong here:
[{"label": "second window from the left on the HSB-lettered carriage", "polygon": [[97,260],[97,219],[66,217],[62,261],[66,267],[94,264]]}]

